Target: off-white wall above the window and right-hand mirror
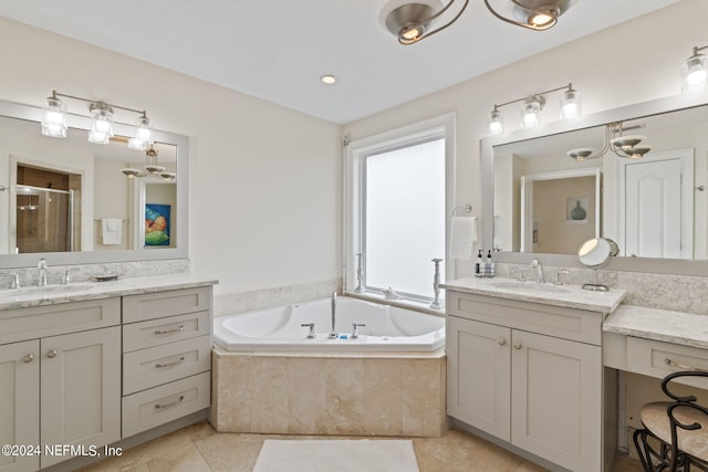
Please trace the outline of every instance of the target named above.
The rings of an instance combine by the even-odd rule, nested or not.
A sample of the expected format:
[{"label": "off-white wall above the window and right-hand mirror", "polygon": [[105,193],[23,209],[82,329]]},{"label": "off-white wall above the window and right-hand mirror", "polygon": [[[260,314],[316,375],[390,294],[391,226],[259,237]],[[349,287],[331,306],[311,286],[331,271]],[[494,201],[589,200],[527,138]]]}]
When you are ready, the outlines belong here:
[{"label": "off-white wall above the window and right-hand mirror", "polygon": [[[570,12],[568,14],[571,14]],[[680,93],[680,65],[693,48],[708,44],[708,2],[684,0],[542,54],[519,61],[396,108],[351,123],[344,133],[360,139],[448,112],[457,114],[455,204],[471,203],[481,216],[479,139],[494,103],[521,98],[569,82],[583,94],[583,113],[591,114]],[[452,27],[454,28],[454,27]],[[499,28],[509,28],[500,24]],[[445,33],[441,33],[445,34]],[[529,31],[529,35],[539,34]],[[430,39],[427,41],[435,41]],[[483,44],[479,45],[483,48]],[[413,46],[415,48],[415,46]],[[475,51],[469,57],[473,61]],[[543,122],[558,119],[556,97],[549,99]],[[518,116],[513,105],[502,108]],[[508,123],[511,126],[511,122]],[[459,263],[457,275],[471,274]]]}]

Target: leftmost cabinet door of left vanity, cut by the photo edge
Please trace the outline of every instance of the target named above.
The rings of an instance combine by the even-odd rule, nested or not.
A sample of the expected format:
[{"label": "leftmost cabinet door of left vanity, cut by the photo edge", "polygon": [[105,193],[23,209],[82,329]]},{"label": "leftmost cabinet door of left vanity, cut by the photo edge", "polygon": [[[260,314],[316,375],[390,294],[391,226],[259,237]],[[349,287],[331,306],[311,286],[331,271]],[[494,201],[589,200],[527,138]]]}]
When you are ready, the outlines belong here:
[{"label": "leftmost cabinet door of left vanity, cut by the photo edge", "polygon": [[[39,340],[0,346],[0,444],[40,443],[39,354]],[[37,454],[0,454],[2,472],[35,471],[39,468]]]}]

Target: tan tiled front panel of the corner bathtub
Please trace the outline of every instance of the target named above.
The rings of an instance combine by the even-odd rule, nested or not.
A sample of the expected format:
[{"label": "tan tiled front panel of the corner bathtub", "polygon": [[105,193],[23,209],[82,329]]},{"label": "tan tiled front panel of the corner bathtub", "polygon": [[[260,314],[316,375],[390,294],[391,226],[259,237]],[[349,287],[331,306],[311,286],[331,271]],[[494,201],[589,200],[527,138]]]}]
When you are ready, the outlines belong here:
[{"label": "tan tiled front panel of the corner bathtub", "polygon": [[439,437],[446,356],[212,353],[220,432]]}]

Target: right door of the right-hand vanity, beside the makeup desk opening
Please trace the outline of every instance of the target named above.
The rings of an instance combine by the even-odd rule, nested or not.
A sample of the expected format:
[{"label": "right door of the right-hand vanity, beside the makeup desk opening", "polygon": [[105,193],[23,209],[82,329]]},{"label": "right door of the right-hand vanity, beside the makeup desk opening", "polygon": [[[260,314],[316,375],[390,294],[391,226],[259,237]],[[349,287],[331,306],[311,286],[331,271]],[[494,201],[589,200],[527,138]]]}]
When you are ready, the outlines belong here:
[{"label": "right door of the right-hand vanity, beside the makeup desk opening", "polygon": [[602,348],[512,334],[511,443],[576,472],[602,470]]}]

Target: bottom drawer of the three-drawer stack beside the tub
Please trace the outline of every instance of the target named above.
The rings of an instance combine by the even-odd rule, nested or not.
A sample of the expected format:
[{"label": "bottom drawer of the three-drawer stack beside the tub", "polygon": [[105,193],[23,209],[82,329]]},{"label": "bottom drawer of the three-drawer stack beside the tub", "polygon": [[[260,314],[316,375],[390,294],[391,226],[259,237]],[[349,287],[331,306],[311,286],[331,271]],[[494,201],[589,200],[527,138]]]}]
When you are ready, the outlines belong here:
[{"label": "bottom drawer of the three-drawer stack beside the tub", "polygon": [[209,408],[210,382],[204,373],[123,397],[123,438]]}]

